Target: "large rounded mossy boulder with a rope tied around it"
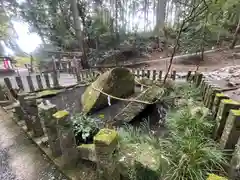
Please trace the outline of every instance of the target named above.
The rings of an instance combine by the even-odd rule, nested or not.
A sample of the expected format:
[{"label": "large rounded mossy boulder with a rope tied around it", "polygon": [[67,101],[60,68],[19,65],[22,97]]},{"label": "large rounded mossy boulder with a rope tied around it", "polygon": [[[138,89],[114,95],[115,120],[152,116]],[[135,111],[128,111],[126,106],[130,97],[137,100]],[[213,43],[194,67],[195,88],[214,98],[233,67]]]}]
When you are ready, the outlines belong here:
[{"label": "large rounded mossy boulder with a rope tied around it", "polygon": [[82,111],[91,113],[108,105],[107,96],[97,91],[97,88],[116,97],[127,97],[134,92],[134,75],[126,68],[114,68],[90,85],[82,95]]}]

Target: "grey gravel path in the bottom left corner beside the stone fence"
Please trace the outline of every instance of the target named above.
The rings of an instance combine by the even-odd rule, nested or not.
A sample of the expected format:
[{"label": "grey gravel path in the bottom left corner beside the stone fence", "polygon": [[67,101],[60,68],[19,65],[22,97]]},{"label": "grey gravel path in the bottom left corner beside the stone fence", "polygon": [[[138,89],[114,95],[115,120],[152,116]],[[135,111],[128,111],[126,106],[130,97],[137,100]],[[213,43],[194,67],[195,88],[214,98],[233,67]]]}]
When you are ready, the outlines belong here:
[{"label": "grey gravel path in the bottom left corner beside the stone fence", "polygon": [[66,180],[0,107],[0,179]]}]

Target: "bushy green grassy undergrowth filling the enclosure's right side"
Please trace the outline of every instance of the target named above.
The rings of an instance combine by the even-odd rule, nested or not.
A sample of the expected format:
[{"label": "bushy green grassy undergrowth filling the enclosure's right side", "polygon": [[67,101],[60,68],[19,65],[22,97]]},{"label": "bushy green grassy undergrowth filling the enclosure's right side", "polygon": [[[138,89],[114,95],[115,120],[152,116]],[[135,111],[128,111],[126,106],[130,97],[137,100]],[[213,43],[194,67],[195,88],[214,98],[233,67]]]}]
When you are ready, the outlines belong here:
[{"label": "bushy green grassy undergrowth filling the enclosure's right side", "polygon": [[200,91],[183,83],[169,96],[181,98],[167,113],[166,137],[155,136],[147,122],[140,128],[126,126],[119,129],[121,161],[127,164],[126,159],[130,156],[134,162],[139,161],[153,169],[139,176],[136,163],[132,163],[128,166],[128,178],[205,180],[209,173],[225,174],[225,153],[211,139],[214,121],[199,101]]}]

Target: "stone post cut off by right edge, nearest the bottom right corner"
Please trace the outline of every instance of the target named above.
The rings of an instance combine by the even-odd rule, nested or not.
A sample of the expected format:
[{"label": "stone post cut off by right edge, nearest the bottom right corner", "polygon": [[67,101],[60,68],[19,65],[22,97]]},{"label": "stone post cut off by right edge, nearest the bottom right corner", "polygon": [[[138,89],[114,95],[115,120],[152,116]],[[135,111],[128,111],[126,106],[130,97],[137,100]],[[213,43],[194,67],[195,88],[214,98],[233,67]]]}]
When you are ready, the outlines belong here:
[{"label": "stone post cut off by right edge, nearest the bottom right corner", "polygon": [[240,138],[235,146],[233,157],[230,163],[229,179],[239,180],[240,179]]}]

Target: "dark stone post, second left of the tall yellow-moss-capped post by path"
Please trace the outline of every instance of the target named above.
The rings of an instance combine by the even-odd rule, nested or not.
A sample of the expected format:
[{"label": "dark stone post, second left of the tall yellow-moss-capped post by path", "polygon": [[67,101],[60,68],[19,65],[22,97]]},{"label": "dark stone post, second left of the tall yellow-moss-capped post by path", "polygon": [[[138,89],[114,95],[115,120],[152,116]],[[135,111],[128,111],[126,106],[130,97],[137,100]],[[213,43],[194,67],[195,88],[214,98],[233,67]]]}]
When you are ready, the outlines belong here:
[{"label": "dark stone post, second left of the tall yellow-moss-capped post by path", "polygon": [[34,137],[41,137],[44,135],[42,124],[38,116],[38,106],[36,97],[27,96],[24,98],[26,103],[26,112],[28,113],[29,119],[32,123],[32,131]]}]

